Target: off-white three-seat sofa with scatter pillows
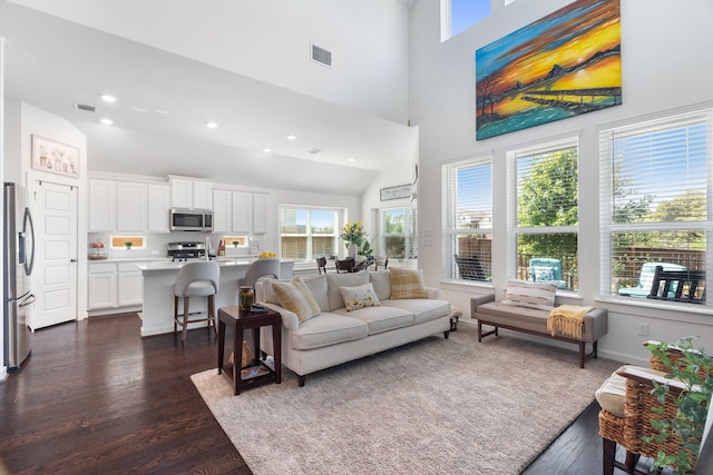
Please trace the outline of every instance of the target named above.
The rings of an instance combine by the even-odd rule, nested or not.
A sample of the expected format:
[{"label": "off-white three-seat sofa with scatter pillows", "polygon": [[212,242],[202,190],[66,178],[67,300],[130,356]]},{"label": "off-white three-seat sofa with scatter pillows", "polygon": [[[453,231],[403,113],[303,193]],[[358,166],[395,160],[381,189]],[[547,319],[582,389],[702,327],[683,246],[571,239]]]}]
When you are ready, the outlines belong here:
[{"label": "off-white three-seat sofa with scatter pillows", "polygon": [[[450,330],[450,304],[440,290],[426,288],[428,298],[392,299],[390,270],[306,276],[320,314],[300,323],[297,315],[280,306],[275,279],[256,284],[261,305],[282,315],[282,364],[304,386],[307,374],[373,355],[427,336]],[[348,311],[340,287],[371,283],[380,306]],[[273,355],[271,331],[262,331],[261,350]]]}]

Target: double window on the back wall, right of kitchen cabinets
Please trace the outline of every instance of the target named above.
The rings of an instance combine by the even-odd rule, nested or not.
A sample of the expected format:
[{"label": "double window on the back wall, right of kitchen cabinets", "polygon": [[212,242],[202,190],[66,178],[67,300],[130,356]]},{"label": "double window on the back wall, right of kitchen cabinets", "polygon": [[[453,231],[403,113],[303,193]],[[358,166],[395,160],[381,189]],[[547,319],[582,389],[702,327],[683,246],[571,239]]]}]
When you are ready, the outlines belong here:
[{"label": "double window on the back wall, right of kitchen cabinets", "polygon": [[280,249],[283,259],[335,256],[343,210],[280,207]]}]

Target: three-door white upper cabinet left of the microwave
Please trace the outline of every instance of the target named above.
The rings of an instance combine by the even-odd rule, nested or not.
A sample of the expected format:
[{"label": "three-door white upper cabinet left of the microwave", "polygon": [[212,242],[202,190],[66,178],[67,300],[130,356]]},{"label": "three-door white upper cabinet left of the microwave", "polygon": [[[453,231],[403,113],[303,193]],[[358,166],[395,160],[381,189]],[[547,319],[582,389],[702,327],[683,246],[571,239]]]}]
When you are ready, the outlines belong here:
[{"label": "three-door white upper cabinet left of the microwave", "polygon": [[168,232],[170,187],[89,180],[89,232]]}]

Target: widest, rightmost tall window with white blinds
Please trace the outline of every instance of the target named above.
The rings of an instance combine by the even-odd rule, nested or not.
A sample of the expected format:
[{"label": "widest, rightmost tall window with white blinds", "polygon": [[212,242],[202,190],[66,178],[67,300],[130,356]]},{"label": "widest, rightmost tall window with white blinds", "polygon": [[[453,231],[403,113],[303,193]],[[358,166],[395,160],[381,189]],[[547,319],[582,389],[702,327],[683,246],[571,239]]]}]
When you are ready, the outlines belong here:
[{"label": "widest, rightmost tall window with white blinds", "polygon": [[[705,108],[599,131],[603,295],[646,298],[657,265],[711,267],[712,116]],[[701,284],[692,297],[705,303]],[[683,285],[685,297],[692,285]]]}]

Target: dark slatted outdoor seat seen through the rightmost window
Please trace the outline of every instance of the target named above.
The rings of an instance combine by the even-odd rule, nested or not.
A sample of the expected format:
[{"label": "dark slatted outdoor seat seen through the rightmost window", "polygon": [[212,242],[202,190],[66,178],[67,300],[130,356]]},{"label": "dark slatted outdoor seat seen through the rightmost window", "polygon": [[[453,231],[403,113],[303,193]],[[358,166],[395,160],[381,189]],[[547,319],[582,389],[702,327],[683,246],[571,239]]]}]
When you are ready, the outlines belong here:
[{"label": "dark slatted outdoor seat seen through the rightmost window", "polygon": [[705,304],[705,271],[665,270],[656,266],[647,298]]}]

